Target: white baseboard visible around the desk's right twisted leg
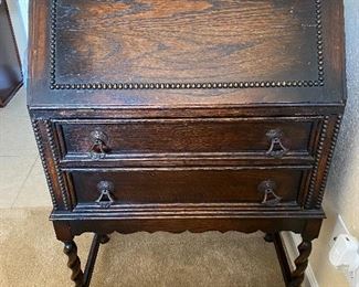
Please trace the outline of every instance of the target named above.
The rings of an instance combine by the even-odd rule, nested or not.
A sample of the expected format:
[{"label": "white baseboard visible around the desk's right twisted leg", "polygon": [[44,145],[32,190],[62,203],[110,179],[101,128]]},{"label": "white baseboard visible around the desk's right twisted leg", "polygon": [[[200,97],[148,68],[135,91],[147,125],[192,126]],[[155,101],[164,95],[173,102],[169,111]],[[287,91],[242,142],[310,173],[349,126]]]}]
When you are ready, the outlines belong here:
[{"label": "white baseboard visible around the desk's right twisted leg", "polygon": [[[292,267],[294,267],[294,259],[299,255],[297,246],[302,242],[302,236],[293,232],[282,232],[283,244],[286,249],[287,256],[291,259]],[[310,264],[305,272],[304,287],[319,287]]]}]

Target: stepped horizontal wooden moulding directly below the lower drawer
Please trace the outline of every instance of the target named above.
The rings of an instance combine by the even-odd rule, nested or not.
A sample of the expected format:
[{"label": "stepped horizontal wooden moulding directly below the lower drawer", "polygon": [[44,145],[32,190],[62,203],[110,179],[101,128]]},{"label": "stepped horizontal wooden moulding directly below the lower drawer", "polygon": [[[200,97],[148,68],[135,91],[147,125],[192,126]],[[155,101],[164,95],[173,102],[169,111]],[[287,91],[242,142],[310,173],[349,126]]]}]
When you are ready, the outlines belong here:
[{"label": "stepped horizontal wooden moulding directly below the lower drawer", "polygon": [[321,219],[320,210],[304,211],[300,206],[288,206],[285,212],[276,212],[276,208],[263,208],[262,204],[115,204],[104,212],[97,204],[76,205],[71,214],[56,212],[53,220],[188,220],[188,219],[257,219],[271,216],[276,219]]}]

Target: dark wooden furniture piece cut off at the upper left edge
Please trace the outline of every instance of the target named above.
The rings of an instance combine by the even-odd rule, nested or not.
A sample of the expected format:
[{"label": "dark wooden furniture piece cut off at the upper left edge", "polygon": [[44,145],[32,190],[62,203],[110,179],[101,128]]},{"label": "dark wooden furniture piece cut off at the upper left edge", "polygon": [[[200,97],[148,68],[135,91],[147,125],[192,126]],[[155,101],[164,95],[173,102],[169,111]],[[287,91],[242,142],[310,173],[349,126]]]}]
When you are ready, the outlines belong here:
[{"label": "dark wooden furniture piece cut off at the upper left edge", "polygon": [[0,0],[0,107],[22,86],[23,76],[17,41],[6,0]]}]

